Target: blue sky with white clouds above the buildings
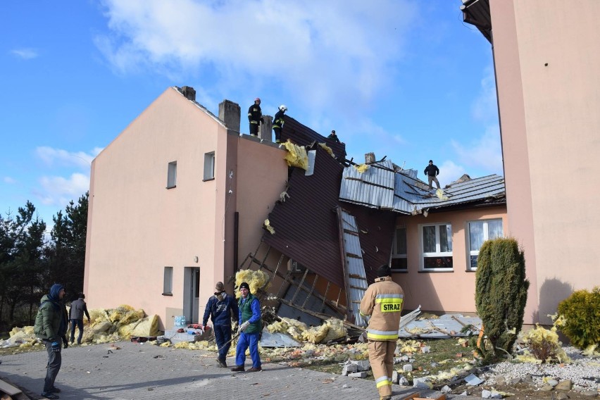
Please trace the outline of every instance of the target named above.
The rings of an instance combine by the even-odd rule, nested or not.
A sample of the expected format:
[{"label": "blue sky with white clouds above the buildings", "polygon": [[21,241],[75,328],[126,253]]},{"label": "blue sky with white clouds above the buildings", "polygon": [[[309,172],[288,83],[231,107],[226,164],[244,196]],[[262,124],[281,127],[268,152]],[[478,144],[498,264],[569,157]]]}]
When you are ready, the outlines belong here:
[{"label": "blue sky with white clouds above the buildings", "polygon": [[[171,86],[279,104],[349,158],[503,175],[492,49],[460,0],[0,2],[0,214],[52,225],[94,156]],[[243,114],[243,113],[242,113]],[[243,115],[242,115],[243,116]],[[242,120],[242,131],[247,124]]]}]

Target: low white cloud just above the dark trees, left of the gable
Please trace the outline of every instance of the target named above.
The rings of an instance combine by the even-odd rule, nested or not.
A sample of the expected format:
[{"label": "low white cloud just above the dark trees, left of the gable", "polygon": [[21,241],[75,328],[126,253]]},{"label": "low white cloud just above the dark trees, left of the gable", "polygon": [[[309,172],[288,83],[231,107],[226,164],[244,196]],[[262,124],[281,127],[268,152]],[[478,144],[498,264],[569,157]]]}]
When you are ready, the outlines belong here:
[{"label": "low white cloud just above the dark trees, left of the gable", "polygon": [[81,173],[73,173],[70,177],[42,176],[41,185],[35,194],[42,204],[64,207],[69,201],[77,199],[89,189],[89,177]]}]

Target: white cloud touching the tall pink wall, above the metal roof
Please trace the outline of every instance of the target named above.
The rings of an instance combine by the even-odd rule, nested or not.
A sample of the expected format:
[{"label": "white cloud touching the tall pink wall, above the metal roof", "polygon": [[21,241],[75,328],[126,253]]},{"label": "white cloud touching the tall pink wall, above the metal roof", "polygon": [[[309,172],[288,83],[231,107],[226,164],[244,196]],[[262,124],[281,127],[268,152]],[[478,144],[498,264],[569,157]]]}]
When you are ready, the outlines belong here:
[{"label": "white cloud touching the tall pink wall, above the metal roof", "polygon": [[470,144],[451,141],[460,162],[474,168],[482,168],[487,173],[502,173],[502,151],[500,132],[497,126],[487,127],[484,134]]}]

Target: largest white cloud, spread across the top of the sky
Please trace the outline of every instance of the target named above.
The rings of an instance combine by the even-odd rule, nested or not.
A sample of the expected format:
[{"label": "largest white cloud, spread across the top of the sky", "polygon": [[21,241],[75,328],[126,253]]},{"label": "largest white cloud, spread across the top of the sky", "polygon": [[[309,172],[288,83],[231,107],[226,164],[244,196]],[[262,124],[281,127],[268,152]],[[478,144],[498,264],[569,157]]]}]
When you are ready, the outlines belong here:
[{"label": "largest white cloud, spread across the top of the sky", "polygon": [[[394,79],[413,2],[105,0],[96,46],[120,73],[197,73],[223,92],[280,87],[314,108],[375,99]],[[289,102],[289,101],[288,101]]]}]

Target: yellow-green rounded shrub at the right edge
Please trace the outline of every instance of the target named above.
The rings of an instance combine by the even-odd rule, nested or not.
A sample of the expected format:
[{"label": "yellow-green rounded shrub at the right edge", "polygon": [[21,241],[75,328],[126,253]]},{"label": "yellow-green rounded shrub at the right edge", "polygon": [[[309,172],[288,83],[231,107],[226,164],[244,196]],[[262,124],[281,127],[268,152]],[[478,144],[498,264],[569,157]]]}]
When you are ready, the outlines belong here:
[{"label": "yellow-green rounded shrub at the right edge", "polygon": [[600,287],[577,290],[561,301],[556,325],[573,346],[600,346]]}]

